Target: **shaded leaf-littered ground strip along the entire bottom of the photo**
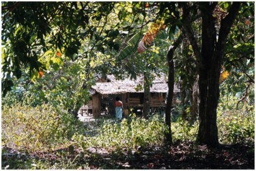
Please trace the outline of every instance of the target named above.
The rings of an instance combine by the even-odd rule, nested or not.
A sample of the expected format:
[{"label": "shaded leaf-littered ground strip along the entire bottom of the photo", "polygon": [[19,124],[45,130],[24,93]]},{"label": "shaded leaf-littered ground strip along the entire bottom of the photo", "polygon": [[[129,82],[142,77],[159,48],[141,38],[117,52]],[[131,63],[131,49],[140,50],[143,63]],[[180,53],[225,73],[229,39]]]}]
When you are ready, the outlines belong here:
[{"label": "shaded leaf-littered ground strip along the entire bottom of the photo", "polygon": [[86,152],[62,149],[48,154],[12,154],[2,153],[2,169],[30,169],[32,158],[48,165],[44,164],[42,169],[255,169],[254,144],[209,148],[194,142],[177,142],[137,150],[90,147]]}]

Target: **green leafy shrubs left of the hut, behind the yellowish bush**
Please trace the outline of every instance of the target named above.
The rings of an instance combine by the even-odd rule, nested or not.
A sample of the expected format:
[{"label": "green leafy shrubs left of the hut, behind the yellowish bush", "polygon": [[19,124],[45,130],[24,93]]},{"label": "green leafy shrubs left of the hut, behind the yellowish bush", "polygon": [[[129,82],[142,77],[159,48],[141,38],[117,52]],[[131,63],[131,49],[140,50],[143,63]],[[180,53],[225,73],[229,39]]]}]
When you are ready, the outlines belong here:
[{"label": "green leafy shrubs left of the hut, behind the yellowish bush", "polygon": [[[88,78],[84,85],[86,73],[83,61],[66,61],[57,71],[49,69],[39,80],[29,81],[29,74],[23,73],[19,80],[13,79],[15,86],[3,97],[4,106],[21,103],[29,106],[49,104],[77,115],[83,104],[89,100],[89,85],[94,80]],[[76,75],[74,77],[74,75]]]}]

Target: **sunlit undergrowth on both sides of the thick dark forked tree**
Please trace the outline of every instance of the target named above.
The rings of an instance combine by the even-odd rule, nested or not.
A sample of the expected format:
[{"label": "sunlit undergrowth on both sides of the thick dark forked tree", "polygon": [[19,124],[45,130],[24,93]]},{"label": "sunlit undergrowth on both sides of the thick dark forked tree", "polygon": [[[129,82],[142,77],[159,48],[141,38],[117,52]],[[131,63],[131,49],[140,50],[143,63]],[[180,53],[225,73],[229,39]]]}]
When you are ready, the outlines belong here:
[{"label": "sunlit undergrowth on both sides of the thick dark forked tree", "polygon": [[[218,139],[221,144],[253,144],[255,139],[254,104],[238,103],[240,95],[223,93],[218,106]],[[189,108],[187,108],[189,109]],[[173,111],[171,129],[174,140],[196,140],[198,121],[190,123],[182,117],[182,106]],[[188,112],[189,113],[189,112]]]}]

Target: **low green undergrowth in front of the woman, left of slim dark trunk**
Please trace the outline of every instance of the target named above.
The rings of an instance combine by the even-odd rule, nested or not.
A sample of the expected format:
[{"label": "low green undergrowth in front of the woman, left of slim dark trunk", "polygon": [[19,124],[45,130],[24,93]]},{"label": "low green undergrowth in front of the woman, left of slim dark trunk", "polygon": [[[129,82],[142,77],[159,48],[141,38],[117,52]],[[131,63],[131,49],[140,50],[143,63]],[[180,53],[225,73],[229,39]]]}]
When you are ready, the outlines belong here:
[{"label": "low green undergrowth in front of the woman, left of slim dark trunk", "polygon": [[165,138],[167,127],[158,115],[141,119],[134,114],[121,123],[104,121],[96,136],[74,135],[77,146],[85,151],[89,146],[105,149],[136,149],[138,146],[160,144]]}]

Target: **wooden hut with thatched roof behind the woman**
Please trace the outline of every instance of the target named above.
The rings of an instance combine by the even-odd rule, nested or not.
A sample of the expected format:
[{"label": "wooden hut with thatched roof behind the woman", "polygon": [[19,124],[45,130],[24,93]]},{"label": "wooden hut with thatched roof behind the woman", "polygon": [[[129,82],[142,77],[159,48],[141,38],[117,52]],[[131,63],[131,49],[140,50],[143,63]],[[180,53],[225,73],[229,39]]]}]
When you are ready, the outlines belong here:
[{"label": "wooden hut with thatched roof behind the woman", "polygon": [[[116,80],[114,76],[106,76],[100,82],[96,82],[91,87],[92,93],[92,114],[94,117],[100,116],[102,108],[108,107],[109,114],[115,114],[115,97],[120,97],[126,112],[133,109],[133,112],[140,114],[143,108],[143,89],[137,89],[138,86],[143,87],[143,77],[137,80]],[[165,76],[154,79],[152,87],[150,87],[150,108],[151,110],[164,110],[167,97],[167,80]],[[173,103],[177,103],[176,95],[179,92],[177,86],[174,88]]]}]

